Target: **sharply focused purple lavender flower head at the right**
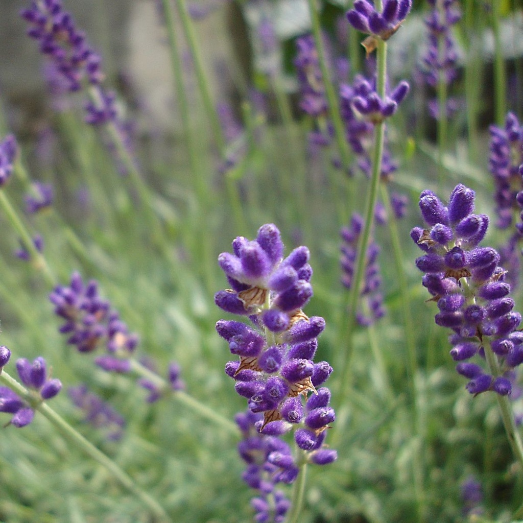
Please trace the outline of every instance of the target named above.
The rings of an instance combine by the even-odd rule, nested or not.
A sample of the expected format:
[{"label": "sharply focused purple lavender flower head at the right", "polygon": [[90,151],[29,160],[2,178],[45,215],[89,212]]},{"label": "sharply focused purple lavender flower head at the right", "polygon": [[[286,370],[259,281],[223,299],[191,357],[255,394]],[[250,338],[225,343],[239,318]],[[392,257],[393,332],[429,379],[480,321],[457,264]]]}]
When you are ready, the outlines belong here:
[{"label": "sharply focused purple lavender flower head at the right", "polygon": [[450,354],[459,362],[456,370],[469,379],[468,391],[506,395],[511,391],[508,376],[497,371],[492,376],[467,361],[492,351],[500,372],[523,362],[523,333],[517,330],[521,315],[513,311],[499,254],[479,246],[488,217],[473,214],[474,198],[474,191],[460,184],[452,190],[446,207],[433,192],[423,191],[419,207],[428,228],[414,228],[411,237],[425,252],[416,259],[416,266],[425,272],[423,285],[437,302],[436,323],[453,331]]}]

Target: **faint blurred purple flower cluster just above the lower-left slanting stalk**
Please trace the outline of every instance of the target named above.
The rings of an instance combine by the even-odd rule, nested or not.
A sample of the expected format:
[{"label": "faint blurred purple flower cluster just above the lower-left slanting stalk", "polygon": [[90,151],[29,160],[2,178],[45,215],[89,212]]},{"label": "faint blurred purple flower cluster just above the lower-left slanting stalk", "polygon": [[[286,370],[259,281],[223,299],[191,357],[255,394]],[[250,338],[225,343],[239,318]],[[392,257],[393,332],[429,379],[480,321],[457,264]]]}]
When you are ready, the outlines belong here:
[{"label": "faint blurred purple flower cluster just above the lower-left slanting stalk", "polygon": [[107,439],[117,441],[123,435],[125,420],[99,396],[89,392],[86,385],[70,387],[67,394],[71,401],[84,412],[84,422],[106,430]]}]

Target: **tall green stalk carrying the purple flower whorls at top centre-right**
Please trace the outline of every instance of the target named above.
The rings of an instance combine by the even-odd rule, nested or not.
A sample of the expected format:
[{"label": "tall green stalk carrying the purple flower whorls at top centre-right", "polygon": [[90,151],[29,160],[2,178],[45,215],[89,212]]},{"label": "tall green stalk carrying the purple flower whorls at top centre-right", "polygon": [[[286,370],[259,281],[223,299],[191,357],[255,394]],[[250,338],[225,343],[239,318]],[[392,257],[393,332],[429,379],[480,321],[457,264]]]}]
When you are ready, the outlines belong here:
[{"label": "tall green stalk carrying the purple flower whorls at top centre-right", "polygon": [[[377,91],[381,98],[385,94],[385,77],[386,77],[386,43],[378,40],[377,48]],[[339,328],[338,344],[340,348],[340,361],[338,362],[339,369],[341,369],[341,379],[338,382],[338,402],[343,402],[346,397],[347,390],[350,386],[351,367],[350,360],[353,354],[353,329],[356,324],[356,310],[360,298],[361,283],[363,281],[363,274],[365,273],[365,265],[367,259],[367,247],[369,245],[370,232],[374,223],[374,208],[378,198],[378,187],[380,183],[381,161],[383,157],[383,142],[385,137],[385,123],[380,122],[374,126],[374,150],[372,154],[372,174],[370,178],[370,185],[367,192],[367,199],[365,203],[365,212],[363,216],[364,225],[363,230],[358,238],[357,258],[354,268],[353,281],[351,282],[350,290],[347,295],[347,301],[342,308],[342,314],[345,321],[341,323]],[[342,347],[346,347],[343,351]],[[337,430],[343,430],[343,427],[338,424]]]}]

